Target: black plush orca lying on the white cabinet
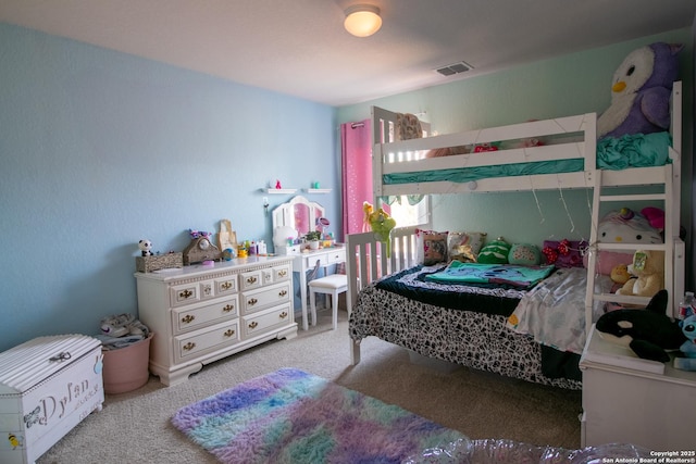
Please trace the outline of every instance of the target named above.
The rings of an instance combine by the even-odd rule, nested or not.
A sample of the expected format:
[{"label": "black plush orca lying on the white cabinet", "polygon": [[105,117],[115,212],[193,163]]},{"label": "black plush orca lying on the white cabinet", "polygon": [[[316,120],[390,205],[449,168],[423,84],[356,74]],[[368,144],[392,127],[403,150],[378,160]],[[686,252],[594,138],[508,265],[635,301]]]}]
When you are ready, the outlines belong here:
[{"label": "black plush orca lying on the white cabinet", "polygon": [[595,328],[607,341],[627,347],[646,360],[669,362],[668,350],[679,350],[686,341],[679,323],[666,314],[667,290],[658,291],[647,308],[624,309],[602,314]]}]

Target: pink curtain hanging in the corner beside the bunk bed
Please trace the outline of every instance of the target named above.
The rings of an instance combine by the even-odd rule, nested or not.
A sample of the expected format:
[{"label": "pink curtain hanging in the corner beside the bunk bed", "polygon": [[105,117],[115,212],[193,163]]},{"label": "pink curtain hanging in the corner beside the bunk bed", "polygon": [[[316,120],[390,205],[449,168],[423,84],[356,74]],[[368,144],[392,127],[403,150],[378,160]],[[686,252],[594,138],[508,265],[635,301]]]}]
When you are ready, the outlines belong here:
[{"label": "pink curtain hanging in the corner beside the bunk bed", "polygon": [[362,203],[372,203],[370,120],[340,125],[344,240],[362,231]]}]

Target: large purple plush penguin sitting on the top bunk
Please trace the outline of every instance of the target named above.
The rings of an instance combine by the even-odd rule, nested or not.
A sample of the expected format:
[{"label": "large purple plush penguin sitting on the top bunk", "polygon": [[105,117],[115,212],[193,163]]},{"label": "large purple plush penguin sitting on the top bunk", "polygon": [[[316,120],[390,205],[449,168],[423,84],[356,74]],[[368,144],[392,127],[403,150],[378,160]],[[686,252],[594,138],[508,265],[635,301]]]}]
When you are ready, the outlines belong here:
[{"label": "large purple plush penguin sitting on the top bunk", "polygon": [[676,54],[682,45],[657,42],[631,52],[613,74],[611,105],[597,120],[597,138],[669,129]]}]

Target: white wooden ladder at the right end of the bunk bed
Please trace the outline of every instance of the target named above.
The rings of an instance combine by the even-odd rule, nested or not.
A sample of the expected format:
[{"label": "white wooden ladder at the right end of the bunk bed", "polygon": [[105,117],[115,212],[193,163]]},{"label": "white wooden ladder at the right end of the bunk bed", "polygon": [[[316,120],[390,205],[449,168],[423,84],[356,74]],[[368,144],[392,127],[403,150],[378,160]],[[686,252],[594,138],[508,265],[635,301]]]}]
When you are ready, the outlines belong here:
[{"label": "white wooden ladder at the right end of the bunk bed", "polygon": [[[662,171],[661,183],[662,188],[661,192],[654,193],[629,193],[625,195],[622,192],[616,193],[611,192],[611,189],[607,189],[607,185],[602,179],[601,170],[593,171],[592,177],[594,180],[594,191],[593,191],[593,208],[592,208],[592,231],[591,231],[591,250],[587,260],[587,290],[585,297],[585,329],[586,334],[589,334],[589,329],[593,324],[593,308],[598,302],[617,302],[624,304],[636,304],[645,306],[649,298],[645,297],[632,297],[632,296],[619,296],[613,293],[602,292],[600,289],[597,289],[597,256],[601,250],[609,251],[623,251],[623,252],[635,252],[638,249],[642,250],[660,250],[664,252],[664,288],[669,291],[669,303],[668,303],[668,315],[671,315],[672,309],[674,308],[673,301],[674,298],[679,298],[680,296],[675,296],[674,289],[678,288],[675,286],[675,277],[674,275],[674,254],[675,254],[675,230],[673,230],[673,214],[674,214],[674,191],[673,191],[673,175],[672,175],[672,165],[667,164],[659,170]],[[656,184],[657,185],[657,184]],[[632,187],[632,189],[639,188],[638,185]],[[645,191],[645,189],[644,189]],[[599,224],[599,212],[601,210],[601,205],[607,203],[618,203],[620,205],[637,205],[643,202],[662,202],[662,208],[664,210],[664,241],[663,243],[657,244],[636,244],[636,243],[602,243],[598,241],[597,237],[597,225]],[[613,208],[616,209],[616,206]]]}]

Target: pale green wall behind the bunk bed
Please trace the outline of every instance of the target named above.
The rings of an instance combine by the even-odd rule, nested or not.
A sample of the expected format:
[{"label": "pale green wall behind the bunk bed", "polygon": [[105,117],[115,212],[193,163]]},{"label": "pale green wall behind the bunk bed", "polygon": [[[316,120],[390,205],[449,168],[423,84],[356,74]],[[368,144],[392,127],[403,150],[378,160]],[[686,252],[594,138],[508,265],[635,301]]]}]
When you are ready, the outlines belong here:
[{"label": "pale green wall behind the bunk bed", "polygon": [[[421,117],[438,134],[493,127],[582,113],[601,113],[611,101],[611,78],[625,55],[638,47],[683,43],[684,81],[683,208],[688,228],[692,206],[694,47],[691,29],[520,65],[436,87],[395,95],[338,110],[339,123],[370,116],[370,106]],[[475,63],[473,63],[475,65]],[[445,81],[446,78],[443,78]],[[589,237],[592,196],[585,190],[473,193],[433,199],[433,224],[440,230],[480,230],[488,238],[540,244],[545,239]]]}]

